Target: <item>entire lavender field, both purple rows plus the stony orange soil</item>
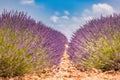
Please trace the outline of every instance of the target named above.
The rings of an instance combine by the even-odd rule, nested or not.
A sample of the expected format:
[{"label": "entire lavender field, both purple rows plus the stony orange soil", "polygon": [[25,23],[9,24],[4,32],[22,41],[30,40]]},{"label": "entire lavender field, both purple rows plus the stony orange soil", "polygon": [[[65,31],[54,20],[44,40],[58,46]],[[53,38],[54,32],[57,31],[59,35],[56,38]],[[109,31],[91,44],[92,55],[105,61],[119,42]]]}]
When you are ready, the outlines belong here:
[{"label": "entire lavender field, both purple rows plus the stony orange soil", "polygon": [[[100,80],[119,80],[119,14],[92,19],[74,33],[70,42],[61,32],[24,12],[4,10],[0,15],[2,80],[92,80],[85,78],[91,77],[86,76],[91,71],[92,77],[98,75]],[[101,77],[110,71],[116,76],[110,73],[106,79]]]}]

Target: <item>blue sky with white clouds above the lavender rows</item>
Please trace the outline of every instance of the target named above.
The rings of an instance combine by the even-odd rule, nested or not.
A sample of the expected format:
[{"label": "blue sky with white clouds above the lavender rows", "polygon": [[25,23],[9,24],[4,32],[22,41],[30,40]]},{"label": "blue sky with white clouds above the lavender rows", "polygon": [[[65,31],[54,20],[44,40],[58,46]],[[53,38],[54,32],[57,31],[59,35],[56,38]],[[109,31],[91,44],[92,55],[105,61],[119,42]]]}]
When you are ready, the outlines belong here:
[{"label": "blue sky with white clouds above the lavender rows", "polygon": [[120,13],[120,0],[0,0],[0,13],[24,11],[37,21],[62,32],[69,40],[87,21]]}]

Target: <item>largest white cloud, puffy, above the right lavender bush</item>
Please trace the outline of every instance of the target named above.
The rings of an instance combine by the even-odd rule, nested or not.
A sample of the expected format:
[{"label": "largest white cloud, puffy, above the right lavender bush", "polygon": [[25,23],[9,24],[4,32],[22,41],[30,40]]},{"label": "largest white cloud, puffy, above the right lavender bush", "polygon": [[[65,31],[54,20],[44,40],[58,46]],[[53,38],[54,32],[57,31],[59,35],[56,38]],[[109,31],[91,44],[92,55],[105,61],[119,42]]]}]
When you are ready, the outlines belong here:
[{"label": "largest white cloud, puffy, above the right lavender bush", "polygon": [[117,11],[109,4],[106,3],[98,3],[93,4],[91,9],[85,9],[81,15],[81,19],[85,21],[89,21],[93,18],[99,18],[102,16],[108,16],[113,13],[116,13]]}]

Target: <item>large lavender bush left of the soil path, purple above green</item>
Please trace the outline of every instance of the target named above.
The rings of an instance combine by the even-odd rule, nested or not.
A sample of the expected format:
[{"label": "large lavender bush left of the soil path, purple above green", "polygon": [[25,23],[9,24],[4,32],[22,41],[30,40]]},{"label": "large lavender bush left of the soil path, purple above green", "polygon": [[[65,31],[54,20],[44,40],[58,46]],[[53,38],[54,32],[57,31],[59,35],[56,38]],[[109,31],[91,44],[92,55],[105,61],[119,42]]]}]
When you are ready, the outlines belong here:
[{"label": "large lavender bush left of the soil path, purple above green", "polygon": [[23,12],[0,15],[0,76],[43,72],[58,65],[67,39]]}]

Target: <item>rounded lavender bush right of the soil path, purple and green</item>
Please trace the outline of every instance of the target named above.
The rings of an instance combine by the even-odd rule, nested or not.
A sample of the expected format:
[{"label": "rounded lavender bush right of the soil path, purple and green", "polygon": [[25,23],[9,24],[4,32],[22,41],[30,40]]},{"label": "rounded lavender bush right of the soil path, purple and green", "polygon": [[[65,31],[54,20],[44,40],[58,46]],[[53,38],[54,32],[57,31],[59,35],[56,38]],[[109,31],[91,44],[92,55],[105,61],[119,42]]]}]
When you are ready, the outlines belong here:
[{"label": "rounded lavender bush right of the soil path, purple and green", "polygon": [[93,19],[74,34],[68,50],[80,67],[120,70],[120,15]]}]

